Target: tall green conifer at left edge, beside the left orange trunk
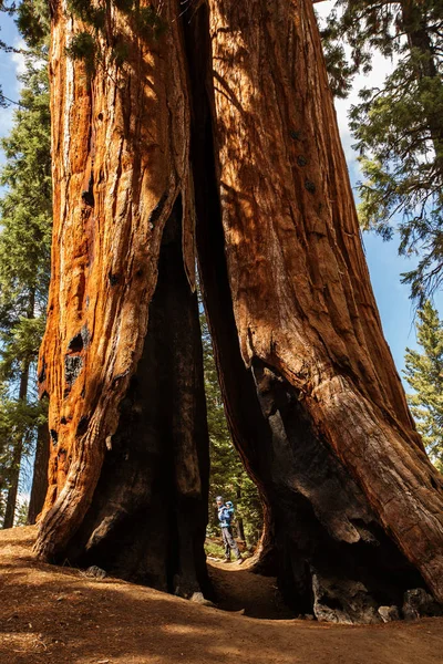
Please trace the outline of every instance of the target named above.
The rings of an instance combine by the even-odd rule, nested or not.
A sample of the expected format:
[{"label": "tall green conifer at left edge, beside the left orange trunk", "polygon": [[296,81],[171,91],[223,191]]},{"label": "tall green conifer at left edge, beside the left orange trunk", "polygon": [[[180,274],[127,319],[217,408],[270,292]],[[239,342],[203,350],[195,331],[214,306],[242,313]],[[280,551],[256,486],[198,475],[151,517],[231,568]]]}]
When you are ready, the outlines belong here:
[{"label": "tall green conifer at left edge, beside the left orange trunk", "polygon": [[44,43],[37,48],[38,41],[27,55],[20,107],[10,135],[2,141],[7,163],[0,173],[0,184],[6,187],[0,200],[0,483],[4,528],[14,521],[23,458],[32,457],[44,437],[41,425],[45,406],[38,402],[34,385],[50,276],[52,191],[47,48]]}]

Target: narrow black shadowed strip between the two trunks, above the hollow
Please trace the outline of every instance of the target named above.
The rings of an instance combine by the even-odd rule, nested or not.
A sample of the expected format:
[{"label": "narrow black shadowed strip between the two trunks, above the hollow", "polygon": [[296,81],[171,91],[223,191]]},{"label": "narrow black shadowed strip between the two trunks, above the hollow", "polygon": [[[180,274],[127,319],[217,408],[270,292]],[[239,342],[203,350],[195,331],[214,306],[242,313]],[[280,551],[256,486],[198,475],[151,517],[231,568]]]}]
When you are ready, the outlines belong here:
[{"label": "narrow black shadowed strip between the two trunks, above the hollow", "polygon": [[[203,299],[208,318],[220,390],[234,443],[260,488],[266,473],[258,464],[270,452],[270,432],[257,401],[254,376],[241,360],[224,252],[222,211],[215,175],[210,95],[210,38],[205,4],[185,22],[192,105],[192,165],[197,217],[196,239]],[[206,63],[206,66],[205,64]],[[248,413],[245,417],[243,413]],[[241,443],[241,444],[240,444]]]}]

